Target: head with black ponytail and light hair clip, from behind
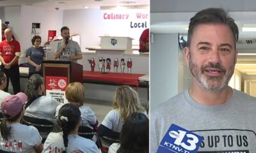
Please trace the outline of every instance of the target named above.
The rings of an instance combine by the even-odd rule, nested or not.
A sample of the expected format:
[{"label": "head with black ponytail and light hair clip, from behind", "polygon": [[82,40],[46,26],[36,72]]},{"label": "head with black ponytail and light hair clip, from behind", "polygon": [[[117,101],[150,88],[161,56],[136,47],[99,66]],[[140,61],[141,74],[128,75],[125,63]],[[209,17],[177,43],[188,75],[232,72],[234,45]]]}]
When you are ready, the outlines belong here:
[{"label": "head with black ponytail and light hair clip, from behind", "polygon": [[77,134],[81,122],[81,112],[76,105],[67,103],[60,108],[58,115],[58,124],[63,131],[63,142],[67,149],[68,135]]}]

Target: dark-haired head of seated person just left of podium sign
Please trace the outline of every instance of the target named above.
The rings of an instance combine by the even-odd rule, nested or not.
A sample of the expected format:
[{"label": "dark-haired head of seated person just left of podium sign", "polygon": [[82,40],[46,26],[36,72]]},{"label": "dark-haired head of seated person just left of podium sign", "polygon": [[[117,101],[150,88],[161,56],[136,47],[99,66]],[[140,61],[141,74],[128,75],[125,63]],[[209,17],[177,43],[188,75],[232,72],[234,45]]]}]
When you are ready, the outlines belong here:
[{"label": "dark-haired head of seated person just left of podium sign", "polygon": [[45,90],[44,79],[41,75],[32,75],[27,83],[26,94],[28,95],[28,100],[35,98],[38,94],[43,94]]}]

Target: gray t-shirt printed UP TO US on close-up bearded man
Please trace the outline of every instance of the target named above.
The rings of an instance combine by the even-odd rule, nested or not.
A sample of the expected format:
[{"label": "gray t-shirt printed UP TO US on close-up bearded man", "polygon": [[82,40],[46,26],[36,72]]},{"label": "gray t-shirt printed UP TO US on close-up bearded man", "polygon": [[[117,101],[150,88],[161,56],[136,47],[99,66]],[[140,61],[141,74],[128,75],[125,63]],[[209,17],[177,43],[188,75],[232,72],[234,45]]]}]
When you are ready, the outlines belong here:
[{"label": "gray t-shirt printed UP TO US on close-up bearded man", "polygon": [[169,99],[150,115],[150,150],[176,124],[203,136],[199,152],[256,152],[256,98],[233,89],[223,105],[196,103],[188,90]]}]

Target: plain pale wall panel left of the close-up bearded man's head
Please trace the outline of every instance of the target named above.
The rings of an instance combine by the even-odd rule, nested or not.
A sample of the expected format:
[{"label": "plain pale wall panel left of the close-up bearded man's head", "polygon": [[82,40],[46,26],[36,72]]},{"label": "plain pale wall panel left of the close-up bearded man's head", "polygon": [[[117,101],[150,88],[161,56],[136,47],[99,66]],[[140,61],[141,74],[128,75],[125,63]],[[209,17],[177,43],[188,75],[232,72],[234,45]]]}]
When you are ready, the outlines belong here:
[{"label": "plain pale wall panel left of the close-up bearded man's head", "polygon": [[178,94],[178,34],[154,34],[150,43],[150,110]]}]

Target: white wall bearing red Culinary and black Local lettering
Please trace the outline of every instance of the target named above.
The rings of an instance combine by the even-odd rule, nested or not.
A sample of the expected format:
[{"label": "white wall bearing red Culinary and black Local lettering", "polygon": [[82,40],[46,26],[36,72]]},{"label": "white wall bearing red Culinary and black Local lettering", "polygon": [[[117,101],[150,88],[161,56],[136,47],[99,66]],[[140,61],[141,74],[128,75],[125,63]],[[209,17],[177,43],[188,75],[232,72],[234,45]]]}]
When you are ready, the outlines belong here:
[{"label": "white wall bearing red Culinary and black Local lettering", "polygon": [[[129,15],[126,19],[104,19],[104,14]],[[147,18],[137,18],[137,13],[147,15]],[[99,8],[88,10],[65,10],[63,25],[70,28],[70,33],[81,35],[81,48],[99,46],[99,36],[129,36],[134,38],[133,44],[139,44],[139,38],[145,27],[131,28],[131,22],[149,23],[149,9],[123,9],[123,10],[99,10]]]}]

